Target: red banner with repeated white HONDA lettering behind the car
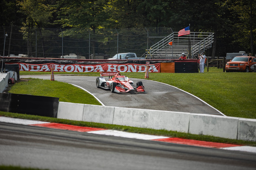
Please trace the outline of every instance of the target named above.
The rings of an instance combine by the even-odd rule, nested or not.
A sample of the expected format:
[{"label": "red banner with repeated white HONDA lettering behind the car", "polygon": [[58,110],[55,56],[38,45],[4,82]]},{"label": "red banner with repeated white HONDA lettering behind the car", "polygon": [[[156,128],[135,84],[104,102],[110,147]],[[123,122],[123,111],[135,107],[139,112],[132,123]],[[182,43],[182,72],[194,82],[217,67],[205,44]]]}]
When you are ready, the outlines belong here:
[{"label": "red banner with repeated white HONDA lettering behind the car", "polygon": [[[146,72],[147,66],[140,64],[19,64],[20,71],[51,71],[51,65],[54,65],[54,72]],[[149,72],[160,73],[160,63],[149,65]]]}]

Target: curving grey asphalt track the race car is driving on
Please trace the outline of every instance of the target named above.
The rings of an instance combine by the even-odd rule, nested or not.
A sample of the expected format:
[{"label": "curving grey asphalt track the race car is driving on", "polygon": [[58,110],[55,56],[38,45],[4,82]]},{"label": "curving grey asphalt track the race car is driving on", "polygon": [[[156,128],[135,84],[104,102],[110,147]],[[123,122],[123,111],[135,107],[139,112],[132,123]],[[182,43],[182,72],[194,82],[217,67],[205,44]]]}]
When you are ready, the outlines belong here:
[{"label": "curving grey asphalt track the race car is driving on", "polygon": [[[50,75],[22,75],[50,80]],[[107,77],[106,77],[107,78]],[[167,110],[199,114],[223,115],[197,97],[170,85],[151,81],[132,79],[134,83],[142,81],[147,93],[111,93],[110,90],[96,88],[96,77],[54,75],[54,80],[80,86],[95,95],[106,106]]]}]

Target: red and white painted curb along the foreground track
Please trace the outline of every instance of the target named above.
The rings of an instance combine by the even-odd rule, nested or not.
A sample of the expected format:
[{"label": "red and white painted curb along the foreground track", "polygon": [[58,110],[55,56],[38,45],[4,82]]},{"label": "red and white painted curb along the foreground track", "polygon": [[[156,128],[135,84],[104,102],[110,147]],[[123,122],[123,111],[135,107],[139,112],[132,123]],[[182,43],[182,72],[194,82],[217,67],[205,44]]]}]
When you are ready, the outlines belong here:
[{"label": "red and white painted curb along the foreground track", "polygon": [[239,151],[256,153],[256,147],[253,147],[253,146],[224,144],[224,143],[207,142],[207,141],[200,141],[200,140],[188,140],[188,139],[181,139],[181,138],[175,138],[175,137],[170,138],[166,136],[145,135],[145,134],[123,132],[118,130],[106,130],[106,129],[100,129],[100,128],[81,127],[81,126],[75,126],[75,125],[65,125],[65,124],[59,124],[59,123],[49,123],[49,122],[43,122],[43,121],[37,121],[37,120],[24,120],[24,119],[16,119],[16,118],[9,118],[9,117],[0,117],[0,122],[14,123],[14,124],[20,124],[20,125],[40,126],[40,127],[47,127],[47,128],[53,128],[53,129],[61,129],[61,130],[72,130],[72,131],[86,132],[86,133],[98,134],[98,135],[111,135],[111,136],[118,136],[123,138],[154,140],[154,141],[169,142],[169,143],[176,143],[176,144],[182,144],[182,145],[193,145],[193,146],[200,146],[200,147],[219,148],[224,150],[239,150]]}]

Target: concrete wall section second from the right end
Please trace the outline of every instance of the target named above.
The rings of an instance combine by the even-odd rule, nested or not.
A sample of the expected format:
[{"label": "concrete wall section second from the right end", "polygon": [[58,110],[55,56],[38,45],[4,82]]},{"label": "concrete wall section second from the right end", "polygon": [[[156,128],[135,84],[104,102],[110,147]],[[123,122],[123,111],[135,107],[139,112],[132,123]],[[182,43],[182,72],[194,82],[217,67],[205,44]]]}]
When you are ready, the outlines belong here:
[{"label": "concrete wall section second from the right end", "polygon": [[190,114],[188,132],[237,139],[238,119],[218,115]]}]

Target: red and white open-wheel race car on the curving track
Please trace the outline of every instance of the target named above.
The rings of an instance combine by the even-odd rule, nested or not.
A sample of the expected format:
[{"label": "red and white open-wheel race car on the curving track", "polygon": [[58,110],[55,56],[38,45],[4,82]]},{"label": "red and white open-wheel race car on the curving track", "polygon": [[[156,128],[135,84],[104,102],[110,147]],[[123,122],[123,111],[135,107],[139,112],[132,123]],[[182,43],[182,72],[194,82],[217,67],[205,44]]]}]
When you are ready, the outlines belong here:
[{"label": "red and white open-wheel race car on the curving track", "polygon": [[[146,92],[141,81],[133,85],[132,80],[121,75],[119,72],[101,72],[100,75],[101,77],[96,78],[97,88],[110,89],[112,93],[125,93],[128,91]],[[105,80],[104,76],[109,76],[109,79]]]}]

